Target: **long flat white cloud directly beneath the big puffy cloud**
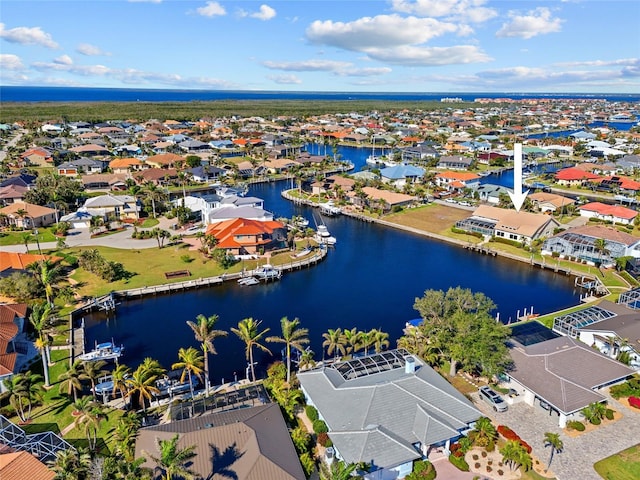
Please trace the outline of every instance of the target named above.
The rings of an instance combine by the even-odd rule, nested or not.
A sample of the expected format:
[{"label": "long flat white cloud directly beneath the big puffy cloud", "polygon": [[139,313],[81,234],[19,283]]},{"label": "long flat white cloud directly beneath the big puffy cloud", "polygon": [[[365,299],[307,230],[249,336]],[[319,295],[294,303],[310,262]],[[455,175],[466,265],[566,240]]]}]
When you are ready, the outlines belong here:
[{"label": "long flat white cloud directly beneath the big puffy cloud", "polygon": [[489,62],[490,56],[474,45],[451,47],[401,46],[389,49],[369,49],[369,57],[386,63],[415,66],[440,66]]}]

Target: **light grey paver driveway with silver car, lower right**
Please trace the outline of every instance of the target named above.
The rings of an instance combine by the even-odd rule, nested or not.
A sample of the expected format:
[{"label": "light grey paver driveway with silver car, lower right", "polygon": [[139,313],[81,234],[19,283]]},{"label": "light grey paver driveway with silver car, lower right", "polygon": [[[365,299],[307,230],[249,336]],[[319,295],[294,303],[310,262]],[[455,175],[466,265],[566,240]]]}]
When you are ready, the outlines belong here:
[{"label": "light grey paver driveway with silver car, lower right", "polygon": [[533,448],[533,455],[545,464],[551,451],[544,447],[545,432],[559,433],[564,450],[556,454],[551,470],[559,480],[602,480],[593,464],[640,442],[640,413],[609,399],[611,408],[622,418],[577,437],[569,437],[558,426],[558,417],[523,402],[510,405],[509,410],[494,412],[489,405],[473,395],[476,407],[496,424],[507,425]]}]

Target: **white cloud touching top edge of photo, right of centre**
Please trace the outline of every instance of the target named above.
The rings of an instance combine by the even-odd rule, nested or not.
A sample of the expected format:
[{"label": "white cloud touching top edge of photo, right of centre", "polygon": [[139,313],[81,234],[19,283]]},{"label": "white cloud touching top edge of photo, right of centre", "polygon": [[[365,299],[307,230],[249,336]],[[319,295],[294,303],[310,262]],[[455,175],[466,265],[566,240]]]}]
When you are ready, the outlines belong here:
[{"label": "white cloud touching top edge of photo, right of centre", "polygon": [[495,9],[483,7],[486,0],[393,0],[396,12],[421,17],[449,17],[472,23],[483,23],[498,15]]}]

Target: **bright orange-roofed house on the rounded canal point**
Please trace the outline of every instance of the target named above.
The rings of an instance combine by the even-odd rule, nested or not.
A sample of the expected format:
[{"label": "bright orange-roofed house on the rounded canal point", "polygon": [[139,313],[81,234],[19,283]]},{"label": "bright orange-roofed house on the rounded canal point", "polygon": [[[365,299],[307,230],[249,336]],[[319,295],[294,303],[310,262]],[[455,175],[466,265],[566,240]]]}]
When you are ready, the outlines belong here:
[{"label": "bright orange-roofed house on the rounded canal point", "polygon": [[258,221],[247,218],[233,218],[212,223],[206,235],[213,236],[216,248],[230,255],[254,255],[286,245],[287,229],[274,220]]}]

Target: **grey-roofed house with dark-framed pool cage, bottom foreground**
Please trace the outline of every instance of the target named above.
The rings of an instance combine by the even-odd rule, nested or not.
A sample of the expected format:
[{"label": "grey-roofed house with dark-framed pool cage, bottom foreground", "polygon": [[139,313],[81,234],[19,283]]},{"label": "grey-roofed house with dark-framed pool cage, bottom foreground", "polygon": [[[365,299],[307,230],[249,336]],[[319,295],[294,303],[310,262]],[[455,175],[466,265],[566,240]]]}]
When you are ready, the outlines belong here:
[{"label": "grey-roofed house with dark-framed pool cage, bottom foreground", "polygon": [[448,450],[480,411],[420,358],[402,349],[298,373],[325,421],[335,456],[371,464],[365,479],[400,479],[433,448]]}]

